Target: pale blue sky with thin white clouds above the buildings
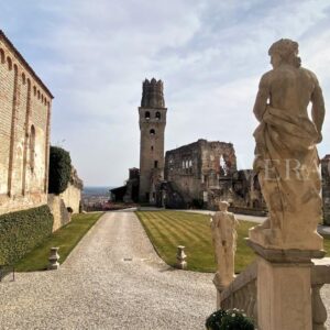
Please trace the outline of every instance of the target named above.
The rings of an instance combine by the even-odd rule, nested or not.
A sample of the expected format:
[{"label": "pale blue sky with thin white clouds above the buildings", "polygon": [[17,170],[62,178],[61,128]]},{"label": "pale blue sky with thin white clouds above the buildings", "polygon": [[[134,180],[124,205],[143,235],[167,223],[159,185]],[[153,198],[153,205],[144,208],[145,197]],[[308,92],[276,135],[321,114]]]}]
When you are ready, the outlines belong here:
[{"label": "pale blue sky with thin white clouds above the buildings", "polygon": [[[330,102],[330,2],[220,0],[3,1],[0,29],[54,94],[52,143],[86,185],[116,186],[139,167],[142,81],[164,81],[165,150],[198,139],[253,161],[252,108],[267,50],[299,43]],[[320,156],[330,153],[330,116]]]}]

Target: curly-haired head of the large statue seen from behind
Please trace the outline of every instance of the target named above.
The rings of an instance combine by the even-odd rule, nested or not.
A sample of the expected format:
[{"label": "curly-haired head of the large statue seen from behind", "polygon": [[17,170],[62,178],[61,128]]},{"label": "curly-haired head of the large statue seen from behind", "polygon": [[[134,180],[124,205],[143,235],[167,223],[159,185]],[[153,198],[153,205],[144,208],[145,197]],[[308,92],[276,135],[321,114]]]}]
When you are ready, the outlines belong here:
[{"label": "curly-haired head of the large statue seen from behind", "polygon": [[271,56],[271,63],[274,68],[280,64],[289,64],[295,67],[300,67],[300,57],[298,57],[298,43],[289,38],[280,38],[275,42],[268,50]]}]

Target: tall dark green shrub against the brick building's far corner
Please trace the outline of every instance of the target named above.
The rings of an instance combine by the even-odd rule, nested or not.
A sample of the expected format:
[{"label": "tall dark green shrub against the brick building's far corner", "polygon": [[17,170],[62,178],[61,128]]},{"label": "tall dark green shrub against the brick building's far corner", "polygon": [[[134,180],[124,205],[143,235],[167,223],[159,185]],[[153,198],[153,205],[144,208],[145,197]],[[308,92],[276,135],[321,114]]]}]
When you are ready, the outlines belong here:
[{"label": "tall dark green shrub against the brick building's far corner", "polygon": [[70,154],[59,146],[51,146],[48,193],[55,195],[63,193],[68,186],[70,176]]}]

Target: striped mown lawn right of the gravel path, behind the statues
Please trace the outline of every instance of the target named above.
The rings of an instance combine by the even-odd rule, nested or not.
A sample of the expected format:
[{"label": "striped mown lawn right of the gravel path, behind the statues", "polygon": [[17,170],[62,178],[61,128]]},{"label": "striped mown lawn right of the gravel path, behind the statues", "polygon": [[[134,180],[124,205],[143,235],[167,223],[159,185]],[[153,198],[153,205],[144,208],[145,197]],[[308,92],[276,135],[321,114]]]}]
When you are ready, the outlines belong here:
[{"label": "striped mown lawn right of the gravel path, behind the statues", "polygon": [[[160,256],[168,264],[176,262],[177,245],[185,245],[188,270],[215,272],[216,263],[210,230],[210,216],[182,211],[138,211],[148,238]],[[244,238],[255,222],[240,221],[235,273],[243,271],[255,257]],[[324,239],[324,249],[330,254],[330,238]]]}]

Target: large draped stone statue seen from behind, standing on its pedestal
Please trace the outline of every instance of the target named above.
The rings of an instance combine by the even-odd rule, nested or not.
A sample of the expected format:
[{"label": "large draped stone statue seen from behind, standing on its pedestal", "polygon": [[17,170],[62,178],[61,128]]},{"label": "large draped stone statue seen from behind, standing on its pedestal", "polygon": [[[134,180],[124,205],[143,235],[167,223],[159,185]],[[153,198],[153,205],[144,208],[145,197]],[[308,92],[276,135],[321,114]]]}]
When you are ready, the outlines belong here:
[{"label": "large draped stone statue seen from behind, standing on its pedestal", "polygon": [[322,91],[316,75],[300,67],[298,43],[282,38],[268,54],[273,69],[261,78],[253,109],[260,121],[253,166],[270,213],[250,230],[250,240],[265,249],[321,250],[316,144],[322,140]]}]

